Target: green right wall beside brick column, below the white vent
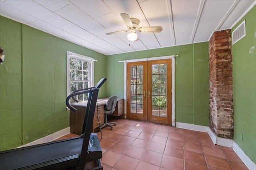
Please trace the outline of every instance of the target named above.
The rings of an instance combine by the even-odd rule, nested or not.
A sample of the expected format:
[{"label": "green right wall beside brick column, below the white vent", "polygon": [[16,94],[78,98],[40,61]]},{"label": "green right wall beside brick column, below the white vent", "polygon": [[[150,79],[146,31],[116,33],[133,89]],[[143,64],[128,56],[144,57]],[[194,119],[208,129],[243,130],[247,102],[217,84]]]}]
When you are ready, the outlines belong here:
[{"label": "green right wall beside brick column, below the white vent", "polygon": [[234,141],[256,163],[256,6],[246,20],[246,36],[232,45],[234,89]]}]

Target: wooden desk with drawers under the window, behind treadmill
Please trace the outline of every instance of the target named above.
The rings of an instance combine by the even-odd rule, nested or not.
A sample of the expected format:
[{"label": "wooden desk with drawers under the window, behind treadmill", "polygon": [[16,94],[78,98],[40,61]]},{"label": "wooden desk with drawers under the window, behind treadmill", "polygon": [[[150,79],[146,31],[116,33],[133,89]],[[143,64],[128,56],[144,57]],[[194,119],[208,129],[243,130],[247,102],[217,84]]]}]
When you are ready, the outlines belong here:
[{"label": "wooden desk with drawers under the window, behind treadmill", "polygon": [[[104,105],[106,105],[107,100],[108,98],[99,98],[97,101],[98,109],[96,108],[94,112],[92,132],[94,132],[94,129],[104,124]],[[70,110],[70,133],[81,135],[87,101],[73,103],[71,106],[75,107],[77,110],[76,112]],[[122,114],[124,114],[124,99],[118,98],[115,111],[110,115],[120,116]]]}]

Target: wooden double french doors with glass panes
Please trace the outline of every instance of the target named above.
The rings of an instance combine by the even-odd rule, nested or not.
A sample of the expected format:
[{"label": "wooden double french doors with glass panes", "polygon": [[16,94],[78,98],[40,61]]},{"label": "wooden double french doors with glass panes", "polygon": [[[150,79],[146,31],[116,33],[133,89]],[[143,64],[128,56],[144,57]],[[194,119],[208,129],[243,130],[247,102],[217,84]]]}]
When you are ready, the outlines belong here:
[{"label": "wooden double french doors with glass panes", "polygon": [[171,125],[171,59],[127,63],[127,118]]}]

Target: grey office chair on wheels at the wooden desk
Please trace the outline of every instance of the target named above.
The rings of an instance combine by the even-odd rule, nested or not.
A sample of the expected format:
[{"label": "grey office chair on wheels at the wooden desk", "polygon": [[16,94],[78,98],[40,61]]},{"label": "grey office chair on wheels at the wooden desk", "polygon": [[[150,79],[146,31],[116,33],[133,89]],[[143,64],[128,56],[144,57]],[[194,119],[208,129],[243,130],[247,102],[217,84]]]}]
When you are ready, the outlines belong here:
[{"label": "grey office chair on wheels at the wooden desk", "polygon": [[111,125],[112,124],[116,125],[116,122],[108,123],[108,115],[115,111],[116,102],[117,102],[117,96],[111,96],[110,98],[108,98],[106,106],[104,106],[104,124],[102,126],[100,126],[100,131],[105,126],[110,127],[110,130],[112,130],[113,126],[111,126]]}]

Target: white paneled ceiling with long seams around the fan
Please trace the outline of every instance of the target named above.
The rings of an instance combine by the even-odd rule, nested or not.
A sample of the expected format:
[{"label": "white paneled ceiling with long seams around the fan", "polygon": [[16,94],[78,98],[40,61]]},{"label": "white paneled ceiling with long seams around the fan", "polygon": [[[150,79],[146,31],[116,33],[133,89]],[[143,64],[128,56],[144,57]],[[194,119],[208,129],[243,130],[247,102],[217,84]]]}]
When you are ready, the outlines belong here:
[{"label": "white paneled ceiling with long seams around the fan", "polygon": [[[104,55],[208,41],[230,29],[256,0],[0,0],[0,15]],[[120,13],[161,33],[138,32],[130,42]]]}]

